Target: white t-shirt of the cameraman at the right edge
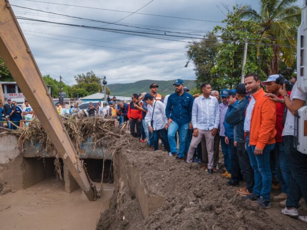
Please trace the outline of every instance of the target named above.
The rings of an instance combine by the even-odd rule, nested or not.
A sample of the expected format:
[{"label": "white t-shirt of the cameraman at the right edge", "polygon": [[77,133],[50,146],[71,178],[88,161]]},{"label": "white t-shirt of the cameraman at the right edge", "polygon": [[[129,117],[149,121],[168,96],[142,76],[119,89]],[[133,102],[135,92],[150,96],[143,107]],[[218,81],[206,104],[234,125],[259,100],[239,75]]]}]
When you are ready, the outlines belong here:
[{"label": "white t-shirt of the cameraman at the right edge", "polygon": [[[299,99],[302,101],[306,101],[307,99],[307,93],[302,93],[298,88],[297,84],[295,83],[293,85],[291,95],[290,95],[291,101],[293,99]],[[287,136],[287,135],[294,135],[294,115],[289,111],[287,111],[287,117],[286,117],[286,122],[284,123],[284,127],[282,130],[282,136]]]}]

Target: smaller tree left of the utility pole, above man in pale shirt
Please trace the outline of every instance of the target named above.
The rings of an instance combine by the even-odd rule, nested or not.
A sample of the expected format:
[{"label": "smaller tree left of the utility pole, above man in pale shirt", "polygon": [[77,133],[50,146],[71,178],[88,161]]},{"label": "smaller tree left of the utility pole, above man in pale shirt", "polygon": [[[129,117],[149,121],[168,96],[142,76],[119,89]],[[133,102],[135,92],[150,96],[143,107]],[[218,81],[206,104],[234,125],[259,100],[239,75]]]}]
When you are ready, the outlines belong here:
[{"label": "smaller tree left of the utility pole, above man in pale shirt", "polygon": [[217,85],[217,74],[212,74],[211,69],[216,64],[216,55],[218,53],[218,41],[213,32],[209,32],[201,42],[193,42],[187,46],[188,62],[192,61],[195,68],[196,85],[204,82],[210,82],[213,87]]}]

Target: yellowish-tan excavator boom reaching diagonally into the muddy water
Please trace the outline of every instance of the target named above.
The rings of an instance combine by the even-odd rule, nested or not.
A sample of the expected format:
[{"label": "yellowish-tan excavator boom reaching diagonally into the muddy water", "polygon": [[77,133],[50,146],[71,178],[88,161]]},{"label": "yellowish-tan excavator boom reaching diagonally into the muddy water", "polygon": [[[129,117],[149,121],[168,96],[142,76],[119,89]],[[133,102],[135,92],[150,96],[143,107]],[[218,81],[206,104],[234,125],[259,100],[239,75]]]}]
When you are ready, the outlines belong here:
[{"label": "yellowish-tan excavator boom reaching diagonally into the muddy water", "polygon": [[31,104],[42,127],[89,200],[95,200],[81,160],[52,102],[8,0],[0,0],[0,56]]}]

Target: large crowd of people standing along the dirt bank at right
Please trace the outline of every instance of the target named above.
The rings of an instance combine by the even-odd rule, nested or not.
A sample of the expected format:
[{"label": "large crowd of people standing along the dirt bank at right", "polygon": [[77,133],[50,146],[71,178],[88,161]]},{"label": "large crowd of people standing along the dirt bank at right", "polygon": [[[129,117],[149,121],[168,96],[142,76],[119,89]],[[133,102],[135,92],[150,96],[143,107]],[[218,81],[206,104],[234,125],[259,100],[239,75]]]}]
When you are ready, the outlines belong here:
[{"label": "large crowd of people standing along the dirt bank at right", "polygon": [[[173,83],[175,92],[162,98],[159,86],[149,93],[134,94],[125,104],[123,120],[130,121],[130,134],[159,149],[159,140],[169,156],[186,164],[202,163],[213,174],[221,169],[219,147],[224,155],[223,177],[227,186],[246,187],[237,193],[244,199],[271,208],[271,199],[283,207],[282,214],[307,221],[297,209],[307,199],[307,154],[294,146],[294,113],[307,94],[292,79],[292,91],[279,84],[280,75],[260,81],[257,74],[221,95],[210,83],[201,85],[202,94],[192,96],[184,81]],[[178,148],[179,142],[179,148]],[[280,188],[271,198],[271,190]]]}]

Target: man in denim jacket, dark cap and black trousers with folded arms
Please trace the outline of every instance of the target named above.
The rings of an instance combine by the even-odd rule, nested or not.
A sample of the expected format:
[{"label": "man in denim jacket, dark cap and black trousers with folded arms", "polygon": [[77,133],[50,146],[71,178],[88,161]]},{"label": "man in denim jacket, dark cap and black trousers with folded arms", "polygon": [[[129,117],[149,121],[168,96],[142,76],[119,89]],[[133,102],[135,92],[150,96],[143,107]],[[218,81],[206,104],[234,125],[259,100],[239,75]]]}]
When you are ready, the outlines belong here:
[{"label": "man in denim jacket, dark cap and black trousers with folded arms", "polygon": [[229,124],[234,125],[234,146],[236,146],[236,154],[241,173],[246,181],[246,188],[237,190],[237,193],[242,196],[248,196],[254,187],[254,171],[245,149],[244,119],[245,110],[248,105],[245,84],[239,84],[235,91],[238,99],[237,104],[232,106],[233,109],[227,114],[225,119]]}]

